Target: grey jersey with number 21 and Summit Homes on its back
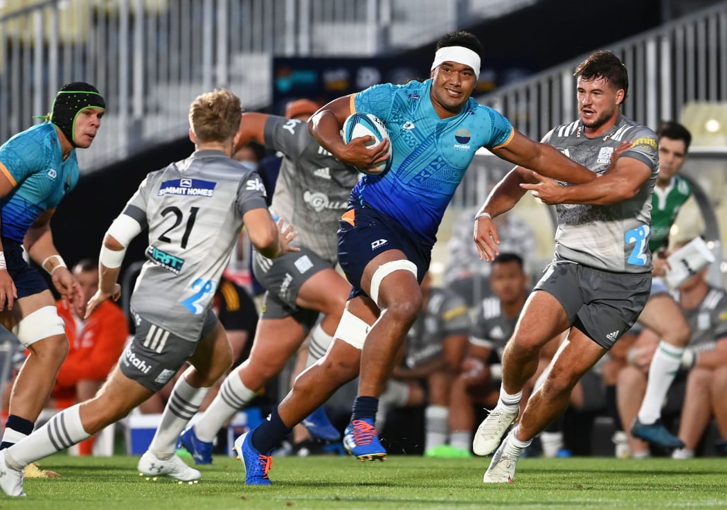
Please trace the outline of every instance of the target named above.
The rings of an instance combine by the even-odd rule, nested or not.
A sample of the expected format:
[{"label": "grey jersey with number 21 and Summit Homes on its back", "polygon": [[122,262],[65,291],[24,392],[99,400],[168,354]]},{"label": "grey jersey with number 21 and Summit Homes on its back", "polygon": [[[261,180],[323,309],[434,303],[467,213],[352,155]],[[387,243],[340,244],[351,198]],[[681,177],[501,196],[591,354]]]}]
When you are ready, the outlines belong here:
[{"label": "grey jersey with number 21 and Summit Homes on its back", "polygon": [[149,229],[132,308],[197,341],[243,215],[266,207],[257,172],[221,151],[196,151],[148,174],[122,212]]}]

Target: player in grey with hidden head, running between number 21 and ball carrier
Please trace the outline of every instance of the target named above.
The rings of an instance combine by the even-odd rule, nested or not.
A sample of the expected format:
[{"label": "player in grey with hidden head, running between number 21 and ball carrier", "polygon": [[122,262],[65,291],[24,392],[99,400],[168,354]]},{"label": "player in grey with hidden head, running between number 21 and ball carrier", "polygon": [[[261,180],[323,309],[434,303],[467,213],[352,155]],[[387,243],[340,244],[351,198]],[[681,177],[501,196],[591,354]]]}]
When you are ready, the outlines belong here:
[{"label": "player in grey with hidden head, running between number 21 and ball carrier", "polygon": [[[267,292],[250,356],[228,375],[217,397],[181,437],[198,464],[212,462],[217,431],[284,369],[309,332],[307,365],[326,353],[350,291],[334,269],[336,231],[361,174],[322,148],[298,119],[244,113],[238,145],[250,141],[284,155],[270,212],[294,223],[300,251],[275,260],[254,255],[255,277]],[[317,439],[340,439],[322,407],[302,423]]]}]

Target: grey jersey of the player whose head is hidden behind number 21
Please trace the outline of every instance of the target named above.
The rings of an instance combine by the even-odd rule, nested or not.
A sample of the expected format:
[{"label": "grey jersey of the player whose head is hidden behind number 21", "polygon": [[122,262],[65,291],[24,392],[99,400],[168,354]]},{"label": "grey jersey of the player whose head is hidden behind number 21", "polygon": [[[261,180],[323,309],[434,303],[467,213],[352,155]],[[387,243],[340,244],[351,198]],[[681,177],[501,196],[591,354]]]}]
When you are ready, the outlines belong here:
[{"label": "grey jersey of the player whose head is hidden behind number 21", "polygon": [[318,145],[303,121],[268,117],[265,146],[285,156],[270,211],[293,224],[298,244],[335,266],[338,222],[361,174]]}]

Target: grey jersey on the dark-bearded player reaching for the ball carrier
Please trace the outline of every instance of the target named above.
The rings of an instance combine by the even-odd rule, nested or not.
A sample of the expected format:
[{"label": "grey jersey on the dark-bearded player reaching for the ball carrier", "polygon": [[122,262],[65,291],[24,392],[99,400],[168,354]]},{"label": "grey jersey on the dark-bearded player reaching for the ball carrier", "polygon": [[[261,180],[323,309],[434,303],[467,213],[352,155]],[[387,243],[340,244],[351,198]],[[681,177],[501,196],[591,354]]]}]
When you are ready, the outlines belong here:
[{"label": "grey jersey on the dark-bearded player reaching for the ball carrier", "polygon": [[606,172],[611,153],[624,141],[632,146],[621,157],[646,164],[651,168],[651,178],[631,199],[616,204],[558,204],[556,260],[572,260],[619,273],[651,271],[651,194],[659,174],[656,134],[619,115],[616,124],[598,138],[586,138],[579,120],[555,127],[543,138],[543,142],[598,174]]}]

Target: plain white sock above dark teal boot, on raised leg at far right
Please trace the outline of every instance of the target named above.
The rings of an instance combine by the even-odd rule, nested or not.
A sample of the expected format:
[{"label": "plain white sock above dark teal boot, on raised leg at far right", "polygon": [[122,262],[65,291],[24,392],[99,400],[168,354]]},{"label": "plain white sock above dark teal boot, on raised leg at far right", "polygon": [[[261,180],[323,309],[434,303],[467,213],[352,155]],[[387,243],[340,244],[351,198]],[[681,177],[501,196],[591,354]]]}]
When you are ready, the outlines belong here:
[{"label": "plain white sock above dark teal boot, on raised leg at far right", "polygon": [[661,418],[662,404],[679,370],[682,354],[684,354],[683,347],[672,346],[664,340],[659,342],[659,347],[656,348],[654,357],[651,358],[651,365],[648,367],[646,394],[638,411],[638,420],[641,423],[648,425]]}]

